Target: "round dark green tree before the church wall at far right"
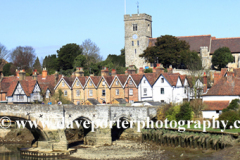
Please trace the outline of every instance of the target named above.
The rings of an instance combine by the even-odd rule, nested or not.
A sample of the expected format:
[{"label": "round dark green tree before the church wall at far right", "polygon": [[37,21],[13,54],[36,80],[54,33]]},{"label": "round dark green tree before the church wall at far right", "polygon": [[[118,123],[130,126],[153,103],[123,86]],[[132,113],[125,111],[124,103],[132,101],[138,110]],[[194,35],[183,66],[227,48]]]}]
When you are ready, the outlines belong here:
[{"label": "round dark green tree before the church wall at far right", "polygon": [[233,62],[234,57],[228,47],[218,48],[214,51],[212,56],[212,64],[216,66],[218,70],[225,68],[229,62]]}]

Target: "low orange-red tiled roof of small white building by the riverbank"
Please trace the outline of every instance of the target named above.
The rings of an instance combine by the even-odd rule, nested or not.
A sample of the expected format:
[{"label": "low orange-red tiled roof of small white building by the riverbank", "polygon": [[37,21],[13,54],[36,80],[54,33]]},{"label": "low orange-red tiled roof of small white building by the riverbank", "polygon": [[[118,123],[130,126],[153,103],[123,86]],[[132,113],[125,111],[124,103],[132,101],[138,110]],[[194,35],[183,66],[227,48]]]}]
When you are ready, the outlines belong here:
[{"label": "low orange-red tiled roof of small white building by the riverbank", "polygon": [[206,104],[206,108],[203,110],[205,111],[215,111],[215,110],[223,110],[224,108],[227,108],[229,105],[229,101],[204,101]]}]

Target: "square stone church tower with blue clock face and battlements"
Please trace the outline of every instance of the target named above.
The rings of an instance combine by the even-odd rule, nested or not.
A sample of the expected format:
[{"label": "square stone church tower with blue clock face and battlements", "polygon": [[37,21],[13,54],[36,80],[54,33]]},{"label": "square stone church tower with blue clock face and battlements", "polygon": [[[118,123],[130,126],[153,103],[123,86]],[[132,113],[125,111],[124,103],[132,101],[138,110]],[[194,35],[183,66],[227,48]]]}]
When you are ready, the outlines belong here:
[{"label": "square stone church tower with blue clock face and battlements", "polygon": [[148,39],[152,38],[152,16],[145,13],[124,15],[124,23],[126,67],[145,67],[147,63],[139,55],[148,47]]}]

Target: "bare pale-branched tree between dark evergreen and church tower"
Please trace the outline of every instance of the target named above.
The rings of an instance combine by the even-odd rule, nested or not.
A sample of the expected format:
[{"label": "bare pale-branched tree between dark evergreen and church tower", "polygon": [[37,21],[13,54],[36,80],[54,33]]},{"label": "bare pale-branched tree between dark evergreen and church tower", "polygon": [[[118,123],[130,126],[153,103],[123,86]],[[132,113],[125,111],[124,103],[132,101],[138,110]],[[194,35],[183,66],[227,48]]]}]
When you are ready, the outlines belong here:
[{"label": "bare pale-branched tree between dark evergreen and church tower", "polygon": [[100,55],[99,47],[90,39],[83,41],[81,48],[83,49],[83,55],[86,56],[88,66],[91,63],[102,61],[103,57]]}]

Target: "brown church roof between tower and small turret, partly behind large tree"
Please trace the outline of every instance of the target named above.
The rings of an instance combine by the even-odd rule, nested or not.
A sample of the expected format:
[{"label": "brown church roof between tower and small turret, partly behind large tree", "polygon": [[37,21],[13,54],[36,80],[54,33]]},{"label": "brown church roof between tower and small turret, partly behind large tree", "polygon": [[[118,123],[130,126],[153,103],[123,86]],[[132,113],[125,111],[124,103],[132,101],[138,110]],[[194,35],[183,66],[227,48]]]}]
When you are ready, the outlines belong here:
[{"label": "brown church roof between tower and small turret, partly behind large tree", "polygon": [[[200,47],[207,46],[210,48],[211,35],[197,35],[197,36],[181,36],[177,37],[179,40],[184,40],[189,43],[190,50],[200,52]],[[157,38],[149,38],[149,47],[155,46]]]}]

